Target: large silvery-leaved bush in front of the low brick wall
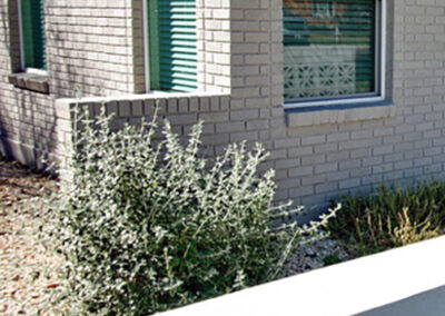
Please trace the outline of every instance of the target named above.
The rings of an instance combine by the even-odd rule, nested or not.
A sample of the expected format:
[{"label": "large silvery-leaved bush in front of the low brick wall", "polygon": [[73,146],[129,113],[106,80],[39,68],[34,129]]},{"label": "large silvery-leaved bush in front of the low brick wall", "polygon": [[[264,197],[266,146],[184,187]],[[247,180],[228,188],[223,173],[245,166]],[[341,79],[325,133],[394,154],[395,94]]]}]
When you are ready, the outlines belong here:
[{"label": "large silvery-leaved bush in front of the low brick wall", "polygon": [[82,120],[72,187],[50,207],[67,259],[75,314],[147,315],[276,279],[293,245],[318,236],[330,215],[288,224],[273,207],[273,171],[258,145],[229,146],[211,166],[201,125],[182,146],[168,122],[112,132]]}]

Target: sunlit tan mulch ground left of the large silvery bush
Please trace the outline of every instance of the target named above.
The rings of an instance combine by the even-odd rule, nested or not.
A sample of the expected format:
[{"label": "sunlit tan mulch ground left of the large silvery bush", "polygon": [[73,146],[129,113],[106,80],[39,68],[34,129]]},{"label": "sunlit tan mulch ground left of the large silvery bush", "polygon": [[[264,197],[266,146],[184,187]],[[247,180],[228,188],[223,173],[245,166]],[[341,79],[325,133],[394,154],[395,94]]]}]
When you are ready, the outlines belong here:
[{"label": "sunlit tan mulch ground left of the large silvery bush", "polygon": [[57,180],[0,156],[0,315],[50,315],[62,259],[39,240]]}]

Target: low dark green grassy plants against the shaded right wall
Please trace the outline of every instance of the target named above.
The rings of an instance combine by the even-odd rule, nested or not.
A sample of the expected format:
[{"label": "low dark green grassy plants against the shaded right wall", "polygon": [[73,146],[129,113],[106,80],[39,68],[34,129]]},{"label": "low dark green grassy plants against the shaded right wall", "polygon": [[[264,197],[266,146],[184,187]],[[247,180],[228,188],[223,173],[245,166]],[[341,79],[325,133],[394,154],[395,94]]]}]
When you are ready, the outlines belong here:
[{"label": "low dark green grassy plants against the shaded right wall", "polygon": [[328,230],[358,255],[368,255],[436,237],[444,224],[445,182],[429,181],[414,187],[380,186],[370,195],[345,196]]}]

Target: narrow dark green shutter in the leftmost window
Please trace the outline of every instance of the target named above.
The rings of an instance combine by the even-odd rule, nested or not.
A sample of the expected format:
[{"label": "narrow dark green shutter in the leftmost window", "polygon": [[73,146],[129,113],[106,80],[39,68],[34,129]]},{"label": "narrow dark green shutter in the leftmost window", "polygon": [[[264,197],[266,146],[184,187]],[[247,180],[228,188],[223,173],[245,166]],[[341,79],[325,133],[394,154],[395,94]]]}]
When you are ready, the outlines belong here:
[{"label": "narrow dark green shutter in the leftmost window", "polygon": [[46,69],[44,0],[20,0],[24,68]]}]

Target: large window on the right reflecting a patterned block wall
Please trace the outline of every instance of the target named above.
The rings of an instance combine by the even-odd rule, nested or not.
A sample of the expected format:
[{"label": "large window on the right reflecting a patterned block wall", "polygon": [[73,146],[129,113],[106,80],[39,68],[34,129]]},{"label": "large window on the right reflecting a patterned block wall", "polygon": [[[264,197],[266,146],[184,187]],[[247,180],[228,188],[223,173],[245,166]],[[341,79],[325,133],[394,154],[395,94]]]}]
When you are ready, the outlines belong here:
[{"label": "large window on the right reflecting a patterned block wall", "polygon": [[385,0],[284,0],[285,107],[384,99]]}]

